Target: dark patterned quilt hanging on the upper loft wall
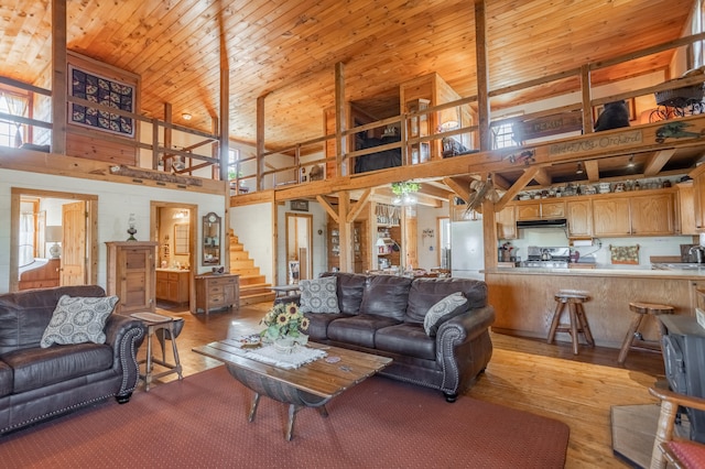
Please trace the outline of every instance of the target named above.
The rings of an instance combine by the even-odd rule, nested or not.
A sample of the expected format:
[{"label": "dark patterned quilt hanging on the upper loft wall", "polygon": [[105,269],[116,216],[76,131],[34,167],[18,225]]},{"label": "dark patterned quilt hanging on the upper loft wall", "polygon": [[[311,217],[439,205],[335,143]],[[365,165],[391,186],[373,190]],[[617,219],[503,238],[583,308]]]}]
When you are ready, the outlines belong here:
[{"label": "dark patterned quilt hanging on the upper loft wall", "polygon": [[[68,73],[70,96],[127,112],[134,111],[134,86],[87,73],[73,65],[69,65]],[[70,102],[69,120],[78,126],[134,137],[134,122],[131,118],[75,102]]]}]

